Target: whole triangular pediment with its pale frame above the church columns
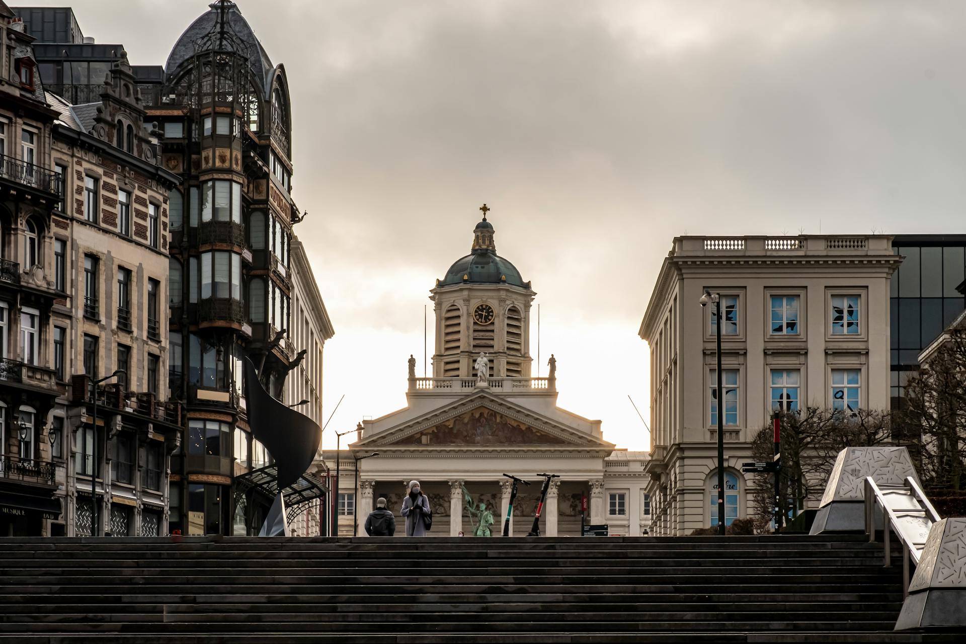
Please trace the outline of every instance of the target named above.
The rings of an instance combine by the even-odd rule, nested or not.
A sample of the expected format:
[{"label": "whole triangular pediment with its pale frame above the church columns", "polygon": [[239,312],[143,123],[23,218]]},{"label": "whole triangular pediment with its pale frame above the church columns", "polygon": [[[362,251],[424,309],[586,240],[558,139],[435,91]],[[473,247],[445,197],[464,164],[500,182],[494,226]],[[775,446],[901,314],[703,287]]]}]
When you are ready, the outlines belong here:
[{"label": "whole triangular pediment with its pale frame above the church columns", "polygon": [[585,448],[612,449],[611,443],[554,422],[524,406],[477,394],[441,406],[419,418],[355,443],[400,448]]}]

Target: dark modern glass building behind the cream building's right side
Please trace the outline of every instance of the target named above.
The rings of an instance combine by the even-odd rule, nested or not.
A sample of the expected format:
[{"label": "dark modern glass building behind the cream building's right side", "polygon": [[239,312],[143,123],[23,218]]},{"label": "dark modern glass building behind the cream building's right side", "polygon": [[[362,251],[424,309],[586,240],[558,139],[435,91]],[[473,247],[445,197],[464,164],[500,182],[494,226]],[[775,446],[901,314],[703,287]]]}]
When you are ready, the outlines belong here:
[{"label": "dark modern glass building behind the cream building's right side", "polygon": [[891,282],[892,406],[919,370],[919,354],[966,308],[956,290],[966,279],[966,235],[899,235],[905,257]]}]

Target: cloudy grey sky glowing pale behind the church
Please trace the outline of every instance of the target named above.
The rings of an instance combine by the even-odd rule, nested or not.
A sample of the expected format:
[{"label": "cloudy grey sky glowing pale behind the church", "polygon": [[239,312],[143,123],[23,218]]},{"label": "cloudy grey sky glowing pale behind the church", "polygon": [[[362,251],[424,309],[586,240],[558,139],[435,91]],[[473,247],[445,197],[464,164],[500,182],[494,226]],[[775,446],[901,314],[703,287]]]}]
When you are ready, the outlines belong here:
[{"label": "cloudy grey sky glowing pale behind the church", "polygon": [[[207,10],[34,4],[71,4],[135,65]],[[558,405],[632,450],[649,446],[628,400],[649,418],[639,324],[675,236],[966,232],[958,0],[239,8],[291,85],[296,233],[335,327],[326,447],[405,406],[429,289],[484,202],[537,293],[534,375],[553,352]]]}]

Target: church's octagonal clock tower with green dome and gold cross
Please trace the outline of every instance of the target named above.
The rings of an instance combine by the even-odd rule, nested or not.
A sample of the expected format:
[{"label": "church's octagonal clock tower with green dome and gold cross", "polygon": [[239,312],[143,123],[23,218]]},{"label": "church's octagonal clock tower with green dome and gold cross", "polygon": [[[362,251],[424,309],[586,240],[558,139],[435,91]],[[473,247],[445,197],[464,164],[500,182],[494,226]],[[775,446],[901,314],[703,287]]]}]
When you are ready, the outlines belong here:
[{"label": "church's octagonal clock tower with green dome and gold cross", "polygon": [[473,364],[484,352],[490,378],[529,378],[530,283],[497,255],[496,231],[483,220],[473,229],[469,255],[453,263],[430,292],[436,310],[434,378],[475,378]]}]

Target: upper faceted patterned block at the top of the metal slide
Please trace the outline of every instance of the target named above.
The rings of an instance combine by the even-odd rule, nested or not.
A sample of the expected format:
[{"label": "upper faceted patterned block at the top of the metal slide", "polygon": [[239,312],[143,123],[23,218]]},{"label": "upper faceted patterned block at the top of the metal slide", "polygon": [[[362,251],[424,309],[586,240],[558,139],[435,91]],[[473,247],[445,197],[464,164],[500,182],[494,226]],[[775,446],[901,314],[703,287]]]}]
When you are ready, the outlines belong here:
[{"label": "upper faceted patterned block at the top of the metal slide", "polygon": [[[912,478],[920,485],[916,468],[913,467],[909,451],[905,447],[846,447],[838,453],[832,475],[825,486],[822,503],[811,524],[810,534],[833,532],[864,532],[865,518],[865,481],[872,477],[875,484],[890,497],[890,505],[895,510],[916,507],[912,490],[906,479]],[[911,523],[918,519],[916,513],[907,513]],[[881,518],[877,518],[879,528]],[[928,525],[910,525],[911,529],[928,531]]]}]

